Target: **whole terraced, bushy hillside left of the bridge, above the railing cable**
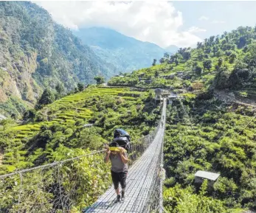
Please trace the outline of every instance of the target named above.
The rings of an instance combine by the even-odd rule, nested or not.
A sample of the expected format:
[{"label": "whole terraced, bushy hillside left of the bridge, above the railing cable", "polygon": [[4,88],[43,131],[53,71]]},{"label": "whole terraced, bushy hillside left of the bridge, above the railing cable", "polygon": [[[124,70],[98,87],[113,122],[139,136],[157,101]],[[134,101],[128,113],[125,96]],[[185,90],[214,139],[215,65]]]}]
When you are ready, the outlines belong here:
[{"label": "whole terraced, bushy hillside left of the bridge, above the railing cable", "polygon": [[[60,145],[97,150],[111,141],[115,128],[125,128],[134,140],[148,134],[159,116],[152,97],[151,92],[129,88],[91,86],[31,111],[27,124],[7,123],[2,127],[1,172],[49,162],[51,152]],[[88,123],[94,126],[83,127]]]}]

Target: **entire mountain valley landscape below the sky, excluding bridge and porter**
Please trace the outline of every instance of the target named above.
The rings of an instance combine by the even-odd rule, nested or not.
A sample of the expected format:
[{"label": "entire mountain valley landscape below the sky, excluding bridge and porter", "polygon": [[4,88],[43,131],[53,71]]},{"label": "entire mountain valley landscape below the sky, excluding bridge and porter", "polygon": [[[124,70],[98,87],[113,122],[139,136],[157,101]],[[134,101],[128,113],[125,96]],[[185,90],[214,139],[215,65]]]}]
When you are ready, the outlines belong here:
[{"label": "entire mountain valley landscape below the sky, excluding bridge and porter", "polygon": [[[27,1],[2,1],[0,18],[0,175],[14,172],[1,176],[0,212],[33,212],[40,202],[41,212],[81,212],[111,186],[103,152],[114,130],[127,130],[134,147],[148,146],[164,117],[164,210],[256,211],[256,27],[170,54],[110,29],[87,29],[80,40]],[[175,97],[164,117],[156,88]],[[198,171],[218,178],[198,184]]]}]

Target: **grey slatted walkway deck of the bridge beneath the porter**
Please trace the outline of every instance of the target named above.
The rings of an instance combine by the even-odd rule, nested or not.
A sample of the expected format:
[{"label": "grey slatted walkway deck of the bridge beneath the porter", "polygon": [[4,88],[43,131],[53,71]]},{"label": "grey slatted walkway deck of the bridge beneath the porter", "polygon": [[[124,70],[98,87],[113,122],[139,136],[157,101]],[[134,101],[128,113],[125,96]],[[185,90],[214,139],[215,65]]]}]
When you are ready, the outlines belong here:
[{"label": "grey slatted walkway deck of the bridge beneath the porter", "polygon": [[[162,108],[162,115],[166,115],[166,99]],[[165,136],[165,118],[161,117],[163,125],[156,133],[152,144],[145,150],[145,153],[128,170],[127,186],[125,191],[125,201],[114,203],[117,195],[114,187],[102,195],[86,213],[91,212],[145,212],[148,204],[151,186],[154,184],[156,172],[159,172],[158,160],[162,152],[162,142]]]}]

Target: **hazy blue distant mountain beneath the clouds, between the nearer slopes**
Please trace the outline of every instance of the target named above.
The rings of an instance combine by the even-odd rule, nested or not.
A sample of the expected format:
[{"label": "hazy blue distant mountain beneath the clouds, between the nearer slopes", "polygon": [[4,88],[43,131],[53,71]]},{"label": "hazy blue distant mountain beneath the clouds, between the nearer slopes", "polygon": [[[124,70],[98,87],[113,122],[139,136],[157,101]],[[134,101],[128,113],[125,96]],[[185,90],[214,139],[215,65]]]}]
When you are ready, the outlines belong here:
[{"label": "hazy blue distant mountain beneath the clouds, between the nearer slopes", "polygon": [[74,31],[74,34],[120,72],[151,66],[154,58],[162,57],[167,52],[156,44],[138,41],[103,27],[83,28]]}]

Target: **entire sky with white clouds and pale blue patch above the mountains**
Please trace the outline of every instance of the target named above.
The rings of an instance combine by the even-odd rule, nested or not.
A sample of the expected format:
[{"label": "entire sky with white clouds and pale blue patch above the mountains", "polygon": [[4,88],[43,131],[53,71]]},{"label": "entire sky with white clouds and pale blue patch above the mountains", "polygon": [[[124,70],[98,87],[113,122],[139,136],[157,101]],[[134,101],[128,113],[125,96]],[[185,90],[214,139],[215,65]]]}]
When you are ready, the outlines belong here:
[{"label": "entire sky with white clouds and pale blue patch above the mountains", "polygon": [[256,25],[256,1],[34,1],[72,30],[107,27],[162,48]]}]

